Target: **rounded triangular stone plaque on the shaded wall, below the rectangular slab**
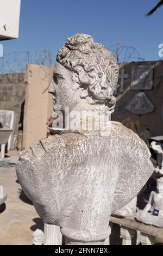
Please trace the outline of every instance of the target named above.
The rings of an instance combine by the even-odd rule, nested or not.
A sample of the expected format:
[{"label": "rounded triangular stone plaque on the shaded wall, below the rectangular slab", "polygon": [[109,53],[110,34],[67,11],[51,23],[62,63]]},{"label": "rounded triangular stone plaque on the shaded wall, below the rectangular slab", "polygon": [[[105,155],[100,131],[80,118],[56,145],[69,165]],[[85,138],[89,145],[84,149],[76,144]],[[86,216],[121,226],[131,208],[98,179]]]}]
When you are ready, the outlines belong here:
[{"label": "rounded triangular stone plaque on the shaded wall, below the rectangular slab", "polygon": [[130,100],[126,109],[134,114],[147,114],[154,111],[154,105],[145,93],[140,92]]}]

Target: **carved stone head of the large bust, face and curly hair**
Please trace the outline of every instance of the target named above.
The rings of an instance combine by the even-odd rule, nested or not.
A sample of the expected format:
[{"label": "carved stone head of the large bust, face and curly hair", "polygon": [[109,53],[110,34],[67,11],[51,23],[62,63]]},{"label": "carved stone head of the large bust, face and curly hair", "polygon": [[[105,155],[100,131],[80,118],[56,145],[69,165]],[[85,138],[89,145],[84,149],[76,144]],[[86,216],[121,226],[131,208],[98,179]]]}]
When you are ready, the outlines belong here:
[{"label": "carved stone head of the large bust, face and curly hair", "polygon": [[48,92],[53,94],[54,111],[93,109],[104,105],[113,112],[118,65],[113,54],[86,34],[71,36],[57,54]]}]

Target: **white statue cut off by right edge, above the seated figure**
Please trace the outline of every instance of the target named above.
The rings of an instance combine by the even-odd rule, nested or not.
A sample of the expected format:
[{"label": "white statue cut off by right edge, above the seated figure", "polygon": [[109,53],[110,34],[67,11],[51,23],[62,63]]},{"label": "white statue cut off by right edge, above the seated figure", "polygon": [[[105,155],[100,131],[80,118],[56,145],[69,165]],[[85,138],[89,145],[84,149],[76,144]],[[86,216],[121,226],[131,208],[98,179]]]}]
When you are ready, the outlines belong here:
[{"label": "white statue cut off by right edge, above the seated figure", "polygon": [[153,141],[150,144],[150,148],[152,148],[157,154],[157,166],[154,168],[154,171],[163,175],[163,150],[161,145],[162,143]]}]

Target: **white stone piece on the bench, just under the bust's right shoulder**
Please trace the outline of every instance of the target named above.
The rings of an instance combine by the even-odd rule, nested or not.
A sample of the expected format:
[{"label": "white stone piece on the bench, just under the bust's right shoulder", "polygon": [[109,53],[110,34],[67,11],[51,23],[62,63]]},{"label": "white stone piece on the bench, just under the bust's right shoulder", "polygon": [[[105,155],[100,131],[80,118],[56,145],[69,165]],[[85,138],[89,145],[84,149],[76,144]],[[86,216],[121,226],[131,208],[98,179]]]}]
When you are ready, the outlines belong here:
[{"label": "white stone piece on the bench, just under the bust's right shoulder", "polygon": [[126,206],[115,212],[115,215],[122,217],[134,217],[136,214],[137,196],[134,197]]}]

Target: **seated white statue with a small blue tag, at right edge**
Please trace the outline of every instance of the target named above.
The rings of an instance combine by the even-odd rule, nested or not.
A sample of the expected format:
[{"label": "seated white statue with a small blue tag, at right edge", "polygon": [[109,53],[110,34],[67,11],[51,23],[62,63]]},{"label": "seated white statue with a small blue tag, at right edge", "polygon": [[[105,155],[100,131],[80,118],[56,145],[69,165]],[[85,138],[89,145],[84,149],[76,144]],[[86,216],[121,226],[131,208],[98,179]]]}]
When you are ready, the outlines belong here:
[{"label": "seated white statue with a small blue tag, at right edge", "polygon": [[[163,177],[157,180],[157,190],[152,191],[145,209],[136,213],[138,221],[163,228]],[[151,208],[152,212],[148,212]]]}]

